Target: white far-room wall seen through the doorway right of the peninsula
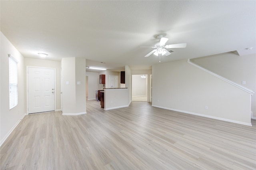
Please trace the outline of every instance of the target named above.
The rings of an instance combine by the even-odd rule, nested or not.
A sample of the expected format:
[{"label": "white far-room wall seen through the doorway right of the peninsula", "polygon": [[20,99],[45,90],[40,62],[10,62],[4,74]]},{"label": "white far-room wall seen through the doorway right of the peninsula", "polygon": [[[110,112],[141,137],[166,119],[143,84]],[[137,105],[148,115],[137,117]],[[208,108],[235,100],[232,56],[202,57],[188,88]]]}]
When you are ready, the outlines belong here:
[{"label": "white far-room wall seen through the doorway right of the peninsula", "polygon": [[148,95],[148,75],[142,79],[142,75],[132,75],[132,97]]}]

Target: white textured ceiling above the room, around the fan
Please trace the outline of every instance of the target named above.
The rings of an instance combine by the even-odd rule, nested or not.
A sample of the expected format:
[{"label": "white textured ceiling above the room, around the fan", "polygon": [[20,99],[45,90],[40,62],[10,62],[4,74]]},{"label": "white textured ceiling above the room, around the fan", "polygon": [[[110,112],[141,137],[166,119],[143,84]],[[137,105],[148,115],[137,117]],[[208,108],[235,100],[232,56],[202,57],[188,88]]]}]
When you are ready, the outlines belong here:
[{"label": "white textured ceiling above the room, around the fan", "polygon": [[[256,1],[0,1],[0,29],[24,57],[84,57],[87,66],[148,69],[163,34],[186,48],[161,62],[256,53]],[[245,48],[254,47],[250,51]],[[103,62],[103,63],[100,63]]]}]

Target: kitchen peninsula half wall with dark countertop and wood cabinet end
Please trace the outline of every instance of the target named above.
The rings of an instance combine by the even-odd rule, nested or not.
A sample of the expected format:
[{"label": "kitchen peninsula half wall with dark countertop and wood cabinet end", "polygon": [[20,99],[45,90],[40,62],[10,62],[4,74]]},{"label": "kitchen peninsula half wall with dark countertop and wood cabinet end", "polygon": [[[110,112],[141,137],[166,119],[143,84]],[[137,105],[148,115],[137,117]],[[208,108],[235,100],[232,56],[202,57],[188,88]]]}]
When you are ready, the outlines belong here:
[{"label": "kitchen peninsula half wall with dark countertop and wood cabinet end", "polygon": [[100,96],[100,105],[104,110],[128,107],[130,105],[128,88],[104,88],[104,91],[100,91]]}]

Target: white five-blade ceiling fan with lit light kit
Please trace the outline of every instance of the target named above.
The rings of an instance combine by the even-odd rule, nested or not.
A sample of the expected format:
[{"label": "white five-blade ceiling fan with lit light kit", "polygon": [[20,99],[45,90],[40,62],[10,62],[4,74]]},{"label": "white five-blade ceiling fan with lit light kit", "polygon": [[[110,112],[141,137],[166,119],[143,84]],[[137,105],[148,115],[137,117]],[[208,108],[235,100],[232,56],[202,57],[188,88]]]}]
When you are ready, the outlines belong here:
[{"label": "white five-blade ceiling fan with lit light kit", "polygon": [[154,45],[154,47],[150,47],[150,48],[156,48],[153,49],[150,53],[148,53],[147,55],[145,55],[145,57],[149,57],[150,55],[152,55],[154,53],[154,55],[159,55],[159,62],[160,61],[160,57],[162,55],[170,55],[171,52],[173,51],[168,51],[166,48],[185,48],[187,46],[187,43],[177,43],[177,44],[170,44],[170,45],[165,45],[165,43],[169,40],[169,38],[164,38],[163,35],[158,35],[157,38],[160,40],[158,43],[156,43]]}]

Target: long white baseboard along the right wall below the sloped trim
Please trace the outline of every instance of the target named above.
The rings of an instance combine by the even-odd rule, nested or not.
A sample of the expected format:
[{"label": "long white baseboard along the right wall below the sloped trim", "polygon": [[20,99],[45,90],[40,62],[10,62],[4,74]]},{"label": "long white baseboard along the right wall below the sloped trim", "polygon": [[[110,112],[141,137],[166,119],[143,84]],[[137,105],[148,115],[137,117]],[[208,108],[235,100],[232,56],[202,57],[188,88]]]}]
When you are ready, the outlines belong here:
[{"label": "long white baseboard along the right wall below the sloped trim", "polygon": [[245,123],[245,122],[234,121],[234,120],[230,120],[230,119],[224,119],[224,118],[221,118],[221,117],[214,117],[214,116],[209,116],[209,115],[203,115],[203,114],[200,114],[200,113],[181,111],[181,110],[178,110],[178,109],[172,109],[172,108],[168,108],[168,107],[162,107],[162,106],[156,106],[156,105],[152,105],[152,106],[153,107],[159,107],[159,108],[162,108],[162,109],[171,110],[171,111],[187,113],[187,114],[190,114],[190,115],[197,115],[197,116],[202,116],[202,117],[208,117],[208,118],[211,118],[211,119],[217,119],[217,120],[220,120],[220,121],[226,121],[226,122],[237,123],[237,124],[240,124],[240,125],[252,126],[251,123]]}]

